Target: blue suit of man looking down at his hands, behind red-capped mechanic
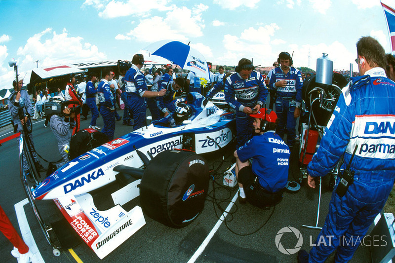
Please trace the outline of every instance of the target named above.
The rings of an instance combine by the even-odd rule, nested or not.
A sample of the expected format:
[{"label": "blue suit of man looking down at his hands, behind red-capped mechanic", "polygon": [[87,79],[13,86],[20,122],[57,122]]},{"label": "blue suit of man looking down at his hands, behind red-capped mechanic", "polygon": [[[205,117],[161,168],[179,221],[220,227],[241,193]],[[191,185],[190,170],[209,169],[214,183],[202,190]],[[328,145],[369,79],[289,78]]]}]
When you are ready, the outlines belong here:
[{"label": "blue suit of man looking down at his hands, behind red-capped mechanic", "polygon": [[253,109],[257,104],[262,108],[268,96],[268,89],[263,76],[257,71],[252,71],[248,79],[243,79],[238,73],[230,75],[225,81],[224,93],[226,102],[236,110],[236,147],[238,148],[251,139],[253,131],[254,118],[243,113],[243,109],[245,107]]}]

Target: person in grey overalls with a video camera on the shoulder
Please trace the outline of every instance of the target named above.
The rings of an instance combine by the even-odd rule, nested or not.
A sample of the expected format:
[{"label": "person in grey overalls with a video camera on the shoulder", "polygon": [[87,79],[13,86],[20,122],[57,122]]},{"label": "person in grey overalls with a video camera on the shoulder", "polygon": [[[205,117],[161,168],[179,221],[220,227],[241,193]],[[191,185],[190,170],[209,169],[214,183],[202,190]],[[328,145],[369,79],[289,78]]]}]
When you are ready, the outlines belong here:
[{"label": "person in grey overalls with a video camera on the shoulder", "polygon": [[[53,114],[51,116],[50,127],[58,141],[59,153],[63,158],[63,162],[57,163],[56,168],[60,168],[69,162],[69,155],[65,151],[65,147],[70,145],[71,129],[76,126],[75,114],[71,113],[71,108],[65,108],[62,114]],[[73,121],[70,121],[73,119]]]}]

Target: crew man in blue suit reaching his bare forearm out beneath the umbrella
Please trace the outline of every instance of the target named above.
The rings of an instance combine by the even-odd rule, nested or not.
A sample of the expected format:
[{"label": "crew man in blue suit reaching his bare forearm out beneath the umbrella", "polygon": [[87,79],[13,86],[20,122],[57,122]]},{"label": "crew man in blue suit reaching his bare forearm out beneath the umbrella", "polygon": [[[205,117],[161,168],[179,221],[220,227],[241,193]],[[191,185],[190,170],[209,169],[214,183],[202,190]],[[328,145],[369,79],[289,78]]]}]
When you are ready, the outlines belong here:
[{"label": "crew man in blue suit reaching his bare forearm out beneath the umbrella", "polygon": [[165,89],[162,89],[158,92],[147,90],[145,76],[140,71],[143,65],[144,56],[142,54],[135,54],[132,59],[132,67],[126,72],[125,75],[127,104],[129,106],[130,112],[133,115],[134,130],[143,127],[146,123],[146,98],[160,97],[166,93]]}]

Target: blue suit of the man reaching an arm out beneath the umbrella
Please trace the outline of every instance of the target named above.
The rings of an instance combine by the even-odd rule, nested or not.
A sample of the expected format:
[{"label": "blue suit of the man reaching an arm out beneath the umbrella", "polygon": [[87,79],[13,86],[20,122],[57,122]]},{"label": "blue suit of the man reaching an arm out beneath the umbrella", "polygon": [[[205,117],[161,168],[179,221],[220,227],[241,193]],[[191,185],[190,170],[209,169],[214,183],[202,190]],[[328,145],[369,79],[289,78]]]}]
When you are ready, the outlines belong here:
[{"label": "blue suit of the man reaching an arm out beneath the umbrella", "polygon": [[146,124],[147,100],[143,97],[147,90],[144,74],[136,65],[126,72],[125,75],[127,104],[134,119],[133,129],[137,130]]}]

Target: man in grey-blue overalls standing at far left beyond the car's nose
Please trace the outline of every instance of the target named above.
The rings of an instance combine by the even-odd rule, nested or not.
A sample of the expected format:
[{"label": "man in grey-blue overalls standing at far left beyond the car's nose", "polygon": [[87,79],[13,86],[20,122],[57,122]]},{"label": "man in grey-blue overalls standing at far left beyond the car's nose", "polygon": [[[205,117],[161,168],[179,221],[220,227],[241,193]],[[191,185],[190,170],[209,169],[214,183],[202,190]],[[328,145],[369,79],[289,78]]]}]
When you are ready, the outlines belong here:
[{"label": "man in grey-blue overalls standing at far left beyond the car's nose", "polygon": [[[23,85],[23,79],[18,81],[18,84],[16,84],[16,81],[14,80],[12,82],[12,85],[14,86],[14,92],[8,97],[8,110],[11,115],[11,122],[14,126],[14,132],[21,132],[23,130],[22,125],[32,125],[29,117],[32,115],[32,103],[30,102],[30,96],[28,92],[25,89],[22,89]],[[19,111],[22,111],[24,118],[20,119],[19,118]],[[34,144],[33,144],[33,135],[32,133],[28,133],[29,136],[29,144],[32,149],[34,149]],[[20,141],[18,140],[18,143]],[[28,178],[32,178],[32,175],[29,172],[30,166],[26,158],[26,149],[22,152],[22,164],[23,164],[23,170],[25,170],[25,174],[28,176]],[[37,153],[33,150],[32,155],[34,157],[34,162],[36,164],[36,167],[39,172],[43,172],[46,169],[42,167]]]}]

